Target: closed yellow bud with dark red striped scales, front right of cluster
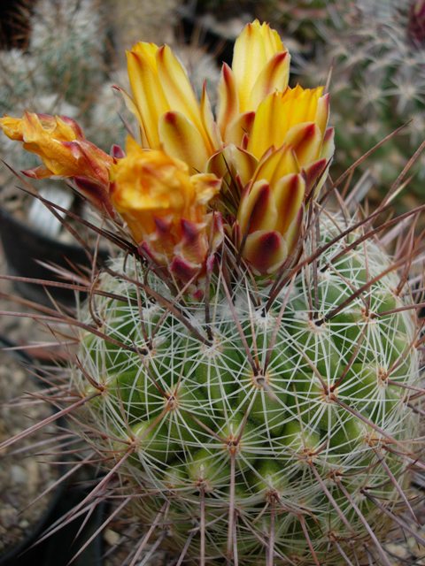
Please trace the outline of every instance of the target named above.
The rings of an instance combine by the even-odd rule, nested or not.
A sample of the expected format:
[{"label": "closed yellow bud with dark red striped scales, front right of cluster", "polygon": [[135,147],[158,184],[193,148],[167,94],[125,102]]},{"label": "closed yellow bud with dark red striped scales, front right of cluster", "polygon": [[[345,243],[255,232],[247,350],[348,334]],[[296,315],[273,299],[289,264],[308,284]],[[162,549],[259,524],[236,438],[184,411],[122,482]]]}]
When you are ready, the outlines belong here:
[{"label": "closed yellow bud with dark red striped scales, front right of cluster", "polygon": [[305,176],[283,145],[259,162],[237,211],[243,258],[260,274],[275,272],[294,251],[303,221]]}]

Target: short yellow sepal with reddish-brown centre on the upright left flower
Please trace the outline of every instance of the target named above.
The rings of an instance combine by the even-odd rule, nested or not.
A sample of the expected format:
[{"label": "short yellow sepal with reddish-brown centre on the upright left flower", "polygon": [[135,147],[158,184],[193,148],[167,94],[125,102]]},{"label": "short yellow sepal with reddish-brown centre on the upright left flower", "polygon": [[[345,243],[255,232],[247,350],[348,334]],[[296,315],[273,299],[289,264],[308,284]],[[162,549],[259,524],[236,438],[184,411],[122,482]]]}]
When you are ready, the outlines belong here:
[{"label": "short yellow sepal with reddish-brown centre on the upright left flower", "polygon": [[159,139],[170,156],[189,164],[192,172],[204,171],[209,158],[199,130],[180,112],[166,112],[159,120]]}]

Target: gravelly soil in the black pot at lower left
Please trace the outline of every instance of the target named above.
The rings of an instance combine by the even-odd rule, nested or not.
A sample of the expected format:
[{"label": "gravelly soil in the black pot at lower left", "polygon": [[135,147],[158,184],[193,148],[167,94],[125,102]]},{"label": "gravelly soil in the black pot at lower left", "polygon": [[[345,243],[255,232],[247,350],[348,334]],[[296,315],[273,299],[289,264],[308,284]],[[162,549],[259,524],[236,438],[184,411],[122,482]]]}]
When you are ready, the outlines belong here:
[{"label": "gravelly soil in the black pot at lower left", "polygon": [[[37,393],[39,387],[30,372],[0,350],[0,442],[49,417],[51,408],[31,398]],[[41,454],[54,449],[54,433],[54,425],[44,427],[0,453],[0,559],[34,533],[50,507],[54,491],[35,498],[58,478],[58,467],[51,465],[54,456]],[[35,456],[32,447],[43,441],[48,442],[37,447]]]}]

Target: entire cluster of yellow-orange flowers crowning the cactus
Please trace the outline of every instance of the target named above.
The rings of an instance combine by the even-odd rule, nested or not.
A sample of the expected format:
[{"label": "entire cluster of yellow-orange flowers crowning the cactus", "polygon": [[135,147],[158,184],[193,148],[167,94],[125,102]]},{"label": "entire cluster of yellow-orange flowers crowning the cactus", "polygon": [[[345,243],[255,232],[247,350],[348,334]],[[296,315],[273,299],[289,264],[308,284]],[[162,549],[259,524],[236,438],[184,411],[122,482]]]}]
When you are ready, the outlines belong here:
[{"label": "entire cluster of yellow-orange flowers crowning the cactus", "polygon": [[121,90],[140,126],[127,153],[107,156],[64,117],[26,113],[0,126],[42,157],[27,174],[72,178],[177,279],[205,272],[222,221],[252,272],[270,275],[296,248],[334,151],[328,95],[290,88],[289,69],[277,32],[248,24],[232,66],[222,66],[214,115],[206,88],[198,102],[168,46],[139,42],[128,51],[131,92]]}]

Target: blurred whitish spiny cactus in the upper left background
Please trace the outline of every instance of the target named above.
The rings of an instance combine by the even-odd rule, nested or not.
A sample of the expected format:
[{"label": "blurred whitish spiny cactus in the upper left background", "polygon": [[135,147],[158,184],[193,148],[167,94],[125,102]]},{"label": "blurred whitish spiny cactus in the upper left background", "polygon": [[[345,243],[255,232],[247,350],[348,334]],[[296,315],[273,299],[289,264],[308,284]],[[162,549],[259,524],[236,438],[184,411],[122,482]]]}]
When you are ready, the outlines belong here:
[{"label": "blurred whitish spiny cactus in the upper left background", "polygon": [[[113,142],[124,139],[124,128],[111,95],[99,96],[102,89],[112,90],[104,66],[106,24],[100,4],[39,0],[30,21],[27,50],[0,51],[0,115],[36,109],[81,119],[97,143],[109,150]],[[99,114],[103,119],[95,129],[93,119]],[[10,143],[3,142],[1,149],[17,168],[35,164]]]}]

